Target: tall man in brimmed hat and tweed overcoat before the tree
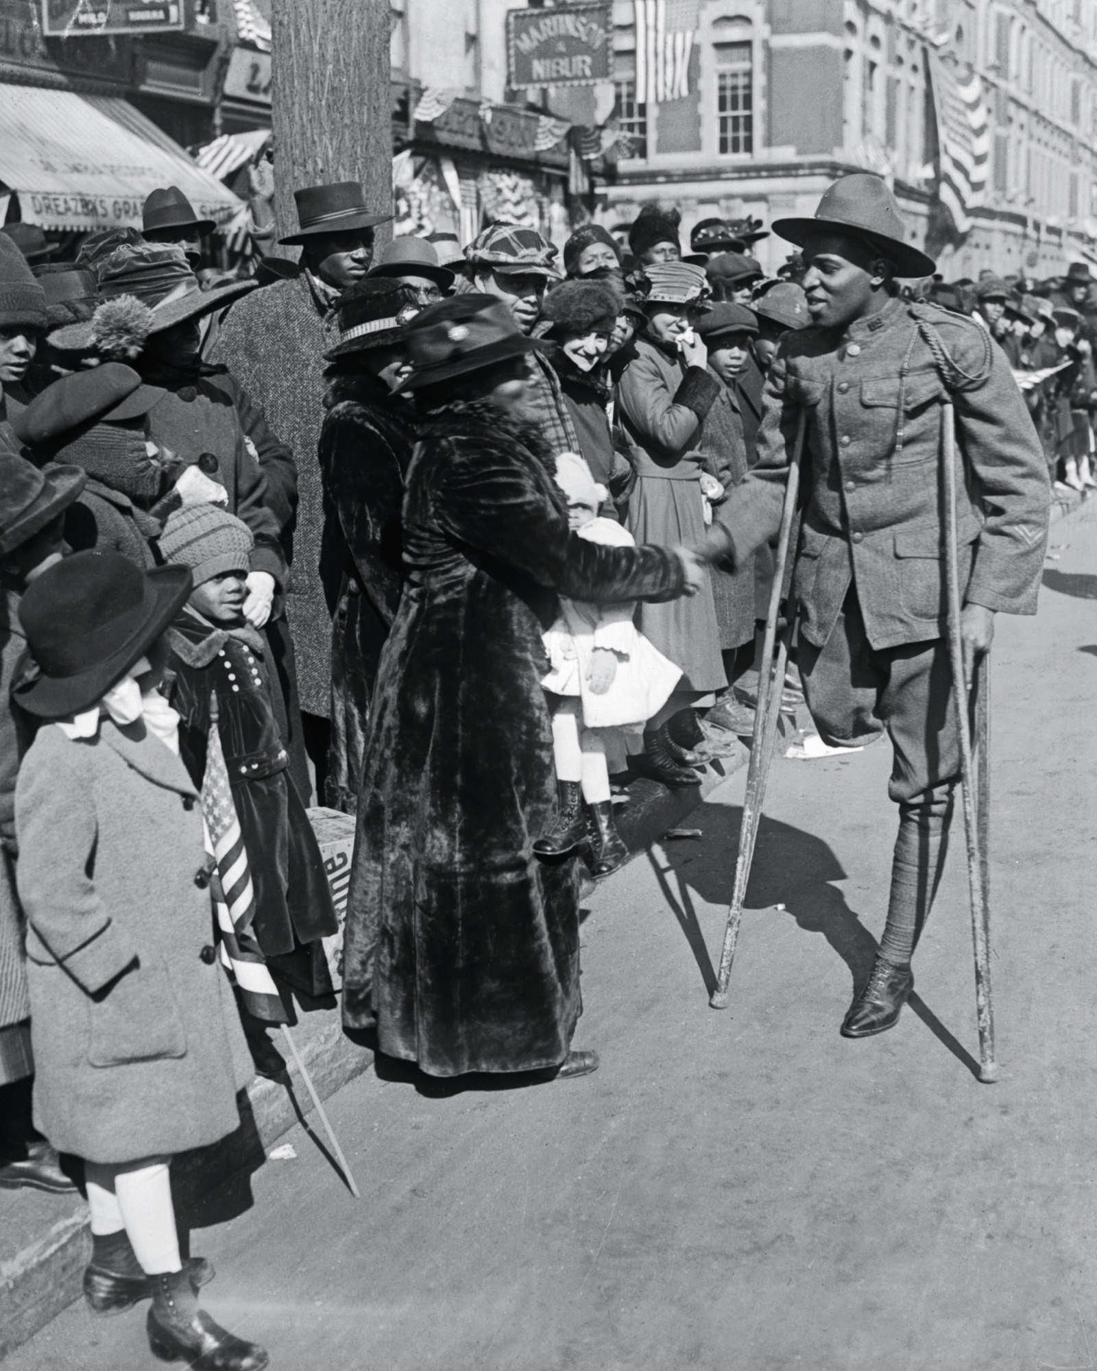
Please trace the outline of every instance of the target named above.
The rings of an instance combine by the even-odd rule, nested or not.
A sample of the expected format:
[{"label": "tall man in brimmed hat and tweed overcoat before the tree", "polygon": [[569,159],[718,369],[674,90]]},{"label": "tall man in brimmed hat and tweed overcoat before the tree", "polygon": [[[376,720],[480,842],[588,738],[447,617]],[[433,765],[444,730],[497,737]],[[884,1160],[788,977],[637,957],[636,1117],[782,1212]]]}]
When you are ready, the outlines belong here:
[{"label": "tall man in brimmed hat and tweed overcoat before the tree", "polygon": [[211,361],[224,362],[262,406],[298,463],[293,576],[287,618],[296,654],[304,740],[324,795],[328,766],[332,616],[320,579],[324,488],[317,462],[324,421],[324,354],[339,341],[335,306],[365,278],[373,230],[392,218],[366,204],[357,181],[295,191],[300,228],[282,239],[302,248],[300,274],[237,302],[221,321]]}]

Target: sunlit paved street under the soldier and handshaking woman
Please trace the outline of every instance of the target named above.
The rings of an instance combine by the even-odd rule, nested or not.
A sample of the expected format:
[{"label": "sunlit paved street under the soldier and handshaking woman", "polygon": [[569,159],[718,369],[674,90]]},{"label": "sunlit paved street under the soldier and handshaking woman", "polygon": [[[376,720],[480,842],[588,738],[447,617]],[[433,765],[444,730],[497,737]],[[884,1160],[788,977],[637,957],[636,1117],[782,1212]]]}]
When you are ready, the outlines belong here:
[{"label": "sunlit paved street under the soldier and handshaking woman", "polygon": [[[1065,1371],[1097,1366],[1097,513],[1052,529],[994,653],[994,993],[976,1050],[963,829],[894,1032],[838,1035],[883,923],[886,746],[782,761],[732,980],[708,1006],[740,772],[591,901],[576,1046],[524,1090],[374,1072],[193,1234],[208,1308],[277,1371]],[[1061,546],[1067,544],[1067,546]],[[207,1223],[210,1216],[199,1216]],[[5,1371],[152,1366],[82,1305]]]}]

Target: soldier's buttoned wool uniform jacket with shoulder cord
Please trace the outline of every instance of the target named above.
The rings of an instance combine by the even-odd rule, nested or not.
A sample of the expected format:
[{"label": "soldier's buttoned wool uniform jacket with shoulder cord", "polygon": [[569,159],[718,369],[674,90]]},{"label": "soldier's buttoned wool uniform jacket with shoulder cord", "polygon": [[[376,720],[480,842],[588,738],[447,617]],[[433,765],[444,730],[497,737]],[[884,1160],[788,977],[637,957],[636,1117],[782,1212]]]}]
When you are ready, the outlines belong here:
[{"label": "soldier's buttoned wool uniform jacket with shoulder cord", "polygon": [[786,335],[767,378],[757,466],[714,513],[709,543],[736,565],[776,533],[805,413],[794,591],[809,643],[827,642],[850,584],[873,648],[943,635],[946,399],[965,602],[1035,613],[1050,488],[1005,354],[971,319],[897,298],[845,330]]}]

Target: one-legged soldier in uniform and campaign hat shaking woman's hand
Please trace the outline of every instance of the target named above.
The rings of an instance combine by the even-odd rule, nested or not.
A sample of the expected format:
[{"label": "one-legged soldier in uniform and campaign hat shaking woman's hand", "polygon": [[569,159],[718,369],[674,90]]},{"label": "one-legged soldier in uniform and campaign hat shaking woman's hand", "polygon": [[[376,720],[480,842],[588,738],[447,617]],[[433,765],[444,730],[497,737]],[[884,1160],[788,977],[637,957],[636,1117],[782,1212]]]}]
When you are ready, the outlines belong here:
[{"label": "one-legged soldier in uniform and campaign hat shaking woman's hand", "polygon": [[905,300],[894,277],[934,263],[908,241],[876,175],[835,182],[812,219],[773,232],[804,251],[809,328],[784,335],[767,378],[758,462],[710,553],[739,565],[776,533],[801,415],[806,506],[795,555],[798,662],[823,740],[887,732],[900,806],[887,923],[842,1024],[883,1032],[913,987],[911,957],[941,873],[960,775],[939,496],[942,404],[956,409],[957,526],[968,658],[994,614],[1033,614],[1048,536],[1048,469],[1000,348],[971,318]]}]

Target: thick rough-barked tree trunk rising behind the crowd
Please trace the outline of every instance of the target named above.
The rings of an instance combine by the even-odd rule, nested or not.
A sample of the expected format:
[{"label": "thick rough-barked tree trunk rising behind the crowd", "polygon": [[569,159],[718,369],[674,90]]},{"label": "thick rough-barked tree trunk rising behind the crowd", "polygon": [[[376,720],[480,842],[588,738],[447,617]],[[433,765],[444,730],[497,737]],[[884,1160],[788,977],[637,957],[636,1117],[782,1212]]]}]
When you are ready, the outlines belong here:
[{"label": "thick rough-barked tree trunk rising behind the crowd", "polygon": [[296,232],[306,185],[361,181],[370,210],[391,214],[388,4],[274,0],[272,29],[277,236]]}]

